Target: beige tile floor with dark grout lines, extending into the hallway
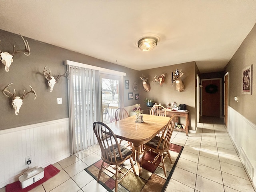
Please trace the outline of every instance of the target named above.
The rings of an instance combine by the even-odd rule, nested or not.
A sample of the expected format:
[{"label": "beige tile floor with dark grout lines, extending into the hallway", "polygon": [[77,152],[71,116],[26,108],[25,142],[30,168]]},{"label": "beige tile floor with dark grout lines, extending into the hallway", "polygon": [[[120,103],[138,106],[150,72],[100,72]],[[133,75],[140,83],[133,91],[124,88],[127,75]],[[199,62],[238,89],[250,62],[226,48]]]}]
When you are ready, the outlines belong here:
[{"label": "beige tile floor with dark grout lines, extending into the hallway", "polygon": [[[172,143],[184,146],[166,188],[168,192],[255,192],[225,129],[223,119],[204,118],[187,137],[174,131]],[[100,160],[98,145],[54,164],[60,173],[30,192],[106,192],[84,168]],[[5,188],[0,189],[5,192]]]}]

